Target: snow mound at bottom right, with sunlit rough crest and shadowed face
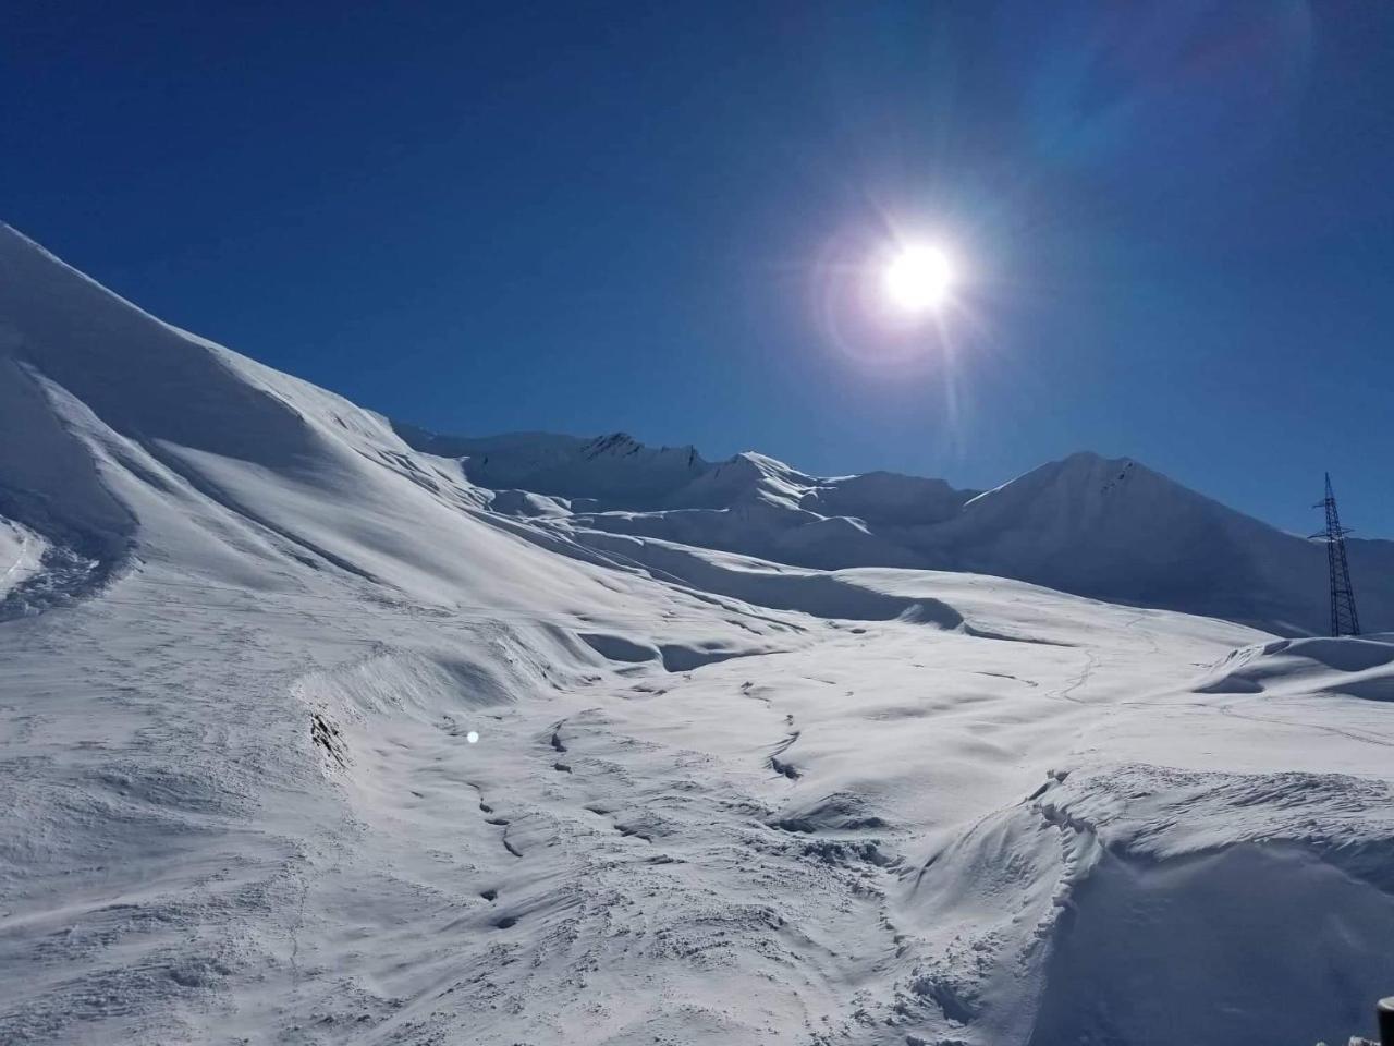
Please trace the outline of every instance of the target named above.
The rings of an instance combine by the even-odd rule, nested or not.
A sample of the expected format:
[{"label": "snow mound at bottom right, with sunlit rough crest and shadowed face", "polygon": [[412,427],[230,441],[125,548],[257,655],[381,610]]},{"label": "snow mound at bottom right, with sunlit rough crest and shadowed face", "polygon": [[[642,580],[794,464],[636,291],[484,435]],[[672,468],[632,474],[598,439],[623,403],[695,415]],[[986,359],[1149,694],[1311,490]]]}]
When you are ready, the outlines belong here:
[{"label": "snow mound at bottom right, with sunlit rough crest and shadowed face", "polygon": [[[1139,802],[1140,799],[1140,802]],[[1394,958],[1394,801],[1354,777],[1072,777],[1037,806],[1093,859],[1052,929],[1030,1042],[1338,1042]]]}]

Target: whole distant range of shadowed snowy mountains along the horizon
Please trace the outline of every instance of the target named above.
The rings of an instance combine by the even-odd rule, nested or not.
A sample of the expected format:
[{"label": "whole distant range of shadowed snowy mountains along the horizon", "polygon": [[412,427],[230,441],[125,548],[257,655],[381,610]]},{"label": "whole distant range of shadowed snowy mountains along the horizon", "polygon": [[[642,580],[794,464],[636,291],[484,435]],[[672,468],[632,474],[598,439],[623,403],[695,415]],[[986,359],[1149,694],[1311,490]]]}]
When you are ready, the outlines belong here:
[{"label": "whole distant range of shadowed snowy mountains along the horizon", "polygon": [[[1287,635],[1330,622],[1324,547],[1129,459],[1079,453],[974,495],[892,473],[817,478],[756,453],[710,464],[691,448],[652,450],[623,434],[471,441],[399,430],[500,491],[495,510],[570,516],[577,529],[820,569],[977,570]],[[509,488],[563,501],[544,513]],[[1362,618],[1394,629],[1394,541],[1349,547]]]}]

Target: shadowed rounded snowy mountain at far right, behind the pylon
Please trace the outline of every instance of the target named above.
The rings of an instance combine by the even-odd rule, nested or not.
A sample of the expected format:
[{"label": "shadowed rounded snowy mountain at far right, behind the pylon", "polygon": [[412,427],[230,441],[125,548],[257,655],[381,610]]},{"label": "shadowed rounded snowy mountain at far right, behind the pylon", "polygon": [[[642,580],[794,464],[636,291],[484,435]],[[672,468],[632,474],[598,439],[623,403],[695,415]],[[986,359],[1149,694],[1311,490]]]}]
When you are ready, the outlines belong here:
[{"label": "shadowed rounded snowy mountain at far right, behind the pylon", "polygon": [[[919,547],[959,569],[1284,633],[1330,621],[1324,545],[1126,459],[1041,466],[974,498]],[[1394,626],[1394,541],[1352,541],[1351,562],[1366,623]]]}]

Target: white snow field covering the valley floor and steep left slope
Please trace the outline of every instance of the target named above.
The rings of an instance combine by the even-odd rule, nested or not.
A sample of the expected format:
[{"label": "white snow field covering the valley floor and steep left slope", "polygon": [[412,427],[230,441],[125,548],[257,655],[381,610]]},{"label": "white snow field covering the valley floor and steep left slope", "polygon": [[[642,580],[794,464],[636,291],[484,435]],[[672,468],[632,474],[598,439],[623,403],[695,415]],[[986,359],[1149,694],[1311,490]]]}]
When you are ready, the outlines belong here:
[{"label": "white snow field covering the valley floor and steep left slope", "polygon": [[[612,533],[604,476],[436,449],[0,226],[0,1042],[1305,1046],[1394,990],[1388,636]],[[916,483],[818,526],[959,519]]]}]

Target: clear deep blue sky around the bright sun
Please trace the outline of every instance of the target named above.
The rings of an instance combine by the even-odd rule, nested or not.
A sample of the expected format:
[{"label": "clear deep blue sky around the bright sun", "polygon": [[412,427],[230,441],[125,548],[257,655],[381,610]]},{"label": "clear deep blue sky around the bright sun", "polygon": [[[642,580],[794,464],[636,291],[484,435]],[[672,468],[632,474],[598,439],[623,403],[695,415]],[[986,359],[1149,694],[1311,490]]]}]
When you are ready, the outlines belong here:
[{"label": "clear deep blue sky around the bright sun", "polygon": [[[1302,531],[1330,469],[1394,537],[1394,6],[202,7],[0,35],[0,218],[171,322],[441,431]],[[849,290],[906,236],[942,335]]]}]

